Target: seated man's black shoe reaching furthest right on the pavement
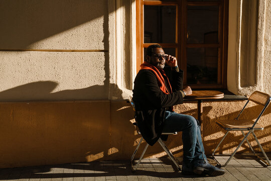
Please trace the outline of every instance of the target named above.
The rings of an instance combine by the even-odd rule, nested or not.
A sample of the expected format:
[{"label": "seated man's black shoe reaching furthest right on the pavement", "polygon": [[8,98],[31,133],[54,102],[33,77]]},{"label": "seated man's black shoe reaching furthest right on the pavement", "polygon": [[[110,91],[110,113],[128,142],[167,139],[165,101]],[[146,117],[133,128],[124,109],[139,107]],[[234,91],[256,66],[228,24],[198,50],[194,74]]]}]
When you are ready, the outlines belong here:
[{"label": "seated man's black shoe reaching furthest right on the pavement", "polygon": [[218,176],[225,173],[221,168],[215,167],[208,163],[208,161],[198,160],[194,163],[193,172],[200,175]]}]

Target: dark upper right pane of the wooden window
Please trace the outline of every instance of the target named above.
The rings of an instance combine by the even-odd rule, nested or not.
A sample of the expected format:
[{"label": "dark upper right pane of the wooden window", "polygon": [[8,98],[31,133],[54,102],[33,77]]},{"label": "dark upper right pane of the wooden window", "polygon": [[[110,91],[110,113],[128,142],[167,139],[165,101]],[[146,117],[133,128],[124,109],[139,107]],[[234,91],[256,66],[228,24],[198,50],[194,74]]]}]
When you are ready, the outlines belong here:
[{"label": "dark upper right pane of the wooden window", "polygon": [[187,43],[218,43],[218,6],[188,6]]}]

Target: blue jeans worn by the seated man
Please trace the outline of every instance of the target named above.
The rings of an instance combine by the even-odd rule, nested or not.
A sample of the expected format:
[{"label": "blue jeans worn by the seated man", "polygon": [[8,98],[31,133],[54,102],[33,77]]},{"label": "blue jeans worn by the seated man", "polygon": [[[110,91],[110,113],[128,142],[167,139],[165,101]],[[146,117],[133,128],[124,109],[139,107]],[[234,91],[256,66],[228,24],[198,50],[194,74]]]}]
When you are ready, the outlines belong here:
[{"label": "blue jeans worn by the seated man", "polygon": [[193,164],[197,160],[206,160],[202,144],[200,125],[193,116],[166,111],[163,132],[182,131],[183,163]]}]

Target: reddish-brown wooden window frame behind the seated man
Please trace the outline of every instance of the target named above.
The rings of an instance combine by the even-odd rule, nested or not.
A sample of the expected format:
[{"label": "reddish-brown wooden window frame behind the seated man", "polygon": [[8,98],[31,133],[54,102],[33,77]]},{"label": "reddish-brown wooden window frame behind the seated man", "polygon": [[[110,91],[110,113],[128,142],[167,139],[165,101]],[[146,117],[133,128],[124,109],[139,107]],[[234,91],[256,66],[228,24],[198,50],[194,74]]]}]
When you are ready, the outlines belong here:
[{"label": "reddish-brown wooden window frame behind the seated man", "polygon": [[[144,43],[144,5],[157,6],[176,6],[176,42],[159,43],[163,48],[177,48],[176,57],[179,67],[184,70],[184,84],[187,84],[187,60],[186,49],[197,47],[218,47],[218,83],[216,84],[191,84],[194,89],[219,89],[227,88],[227,53],[228,53],[228,6],[229,0],[220,0],[217,2],[187,2],[187,1],[148,1],[135,0],[136,3],[136,46],[137,46],[137,71],[144,61],[144,48],[151,44]],[[187,44],[186,27],[187,27],[187,6],[219,6],[219,43],[218,44]]]}]

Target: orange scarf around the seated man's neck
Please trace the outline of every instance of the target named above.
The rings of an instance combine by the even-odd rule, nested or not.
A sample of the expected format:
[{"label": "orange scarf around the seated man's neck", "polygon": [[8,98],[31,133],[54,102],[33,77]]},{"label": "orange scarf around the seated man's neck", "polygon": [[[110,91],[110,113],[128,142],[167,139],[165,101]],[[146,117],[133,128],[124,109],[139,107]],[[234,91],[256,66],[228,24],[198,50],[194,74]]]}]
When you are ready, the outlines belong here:
[{"label": "orange scarf around the seated man's neck", "polygon": [[[140,65],[140,69],[141,70],[151,70],[152,72],[154,72],[154,74],[156,75],[157,82],[158,82],[158,85],[160,86],[161,91],[163,93],[165,93],[165,94],[171,94],[172,93],[172,88],[171,88],[168,76],[166,75],[166,73],[165,73],[165,71],[163,69],[161,69],[159,71],[154,65],[152,65],[152,64],[150,64],[150,63],[148,63],[146,61],[143,64]],[[164,79],[163,75],[168,80],[168,87],[170,88],[170,90],[168,90],[166,85],[165,85],[165,79]]]}]

